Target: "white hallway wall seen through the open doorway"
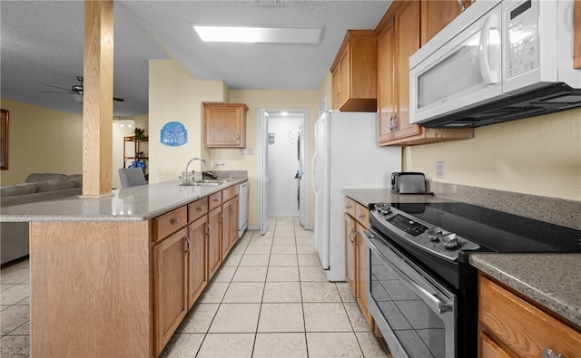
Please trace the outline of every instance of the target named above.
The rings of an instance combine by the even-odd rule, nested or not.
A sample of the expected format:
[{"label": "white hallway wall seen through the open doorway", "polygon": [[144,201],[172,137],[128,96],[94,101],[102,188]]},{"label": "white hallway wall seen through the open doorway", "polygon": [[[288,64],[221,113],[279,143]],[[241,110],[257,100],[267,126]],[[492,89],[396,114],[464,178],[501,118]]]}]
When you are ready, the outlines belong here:
[{"label": "white hallway wall seen through the open doorway", "polygon": [[271,117],[269,132],[275,141],[269,144],[269,217],[299,217],[297,180],[299,169],[298,134],[303,117]]}]

